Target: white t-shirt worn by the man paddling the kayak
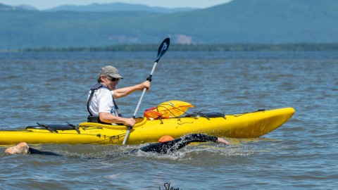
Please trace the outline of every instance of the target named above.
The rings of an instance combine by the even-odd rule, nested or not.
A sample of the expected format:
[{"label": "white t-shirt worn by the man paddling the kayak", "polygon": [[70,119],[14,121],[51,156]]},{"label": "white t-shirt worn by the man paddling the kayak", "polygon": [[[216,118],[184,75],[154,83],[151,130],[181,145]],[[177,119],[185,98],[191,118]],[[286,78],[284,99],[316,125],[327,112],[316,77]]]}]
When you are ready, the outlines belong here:
[{"label": "white t-shirt worn by the man paddling the kayak", "polygon": [[[88,99],[90,96],[90,93],[92,91],[89,91]],[[92,101],[89,102],[89,110],[90,113],[94,116],[99,116],[100,112],[103,113],[111,113],[113,115],[118,116],[118,114],[115,111],[115,105],[113,102],[113,91],[110,91],[106,88],[99,88],[96,91],[94,91],[94,95],[92,97]]]}]

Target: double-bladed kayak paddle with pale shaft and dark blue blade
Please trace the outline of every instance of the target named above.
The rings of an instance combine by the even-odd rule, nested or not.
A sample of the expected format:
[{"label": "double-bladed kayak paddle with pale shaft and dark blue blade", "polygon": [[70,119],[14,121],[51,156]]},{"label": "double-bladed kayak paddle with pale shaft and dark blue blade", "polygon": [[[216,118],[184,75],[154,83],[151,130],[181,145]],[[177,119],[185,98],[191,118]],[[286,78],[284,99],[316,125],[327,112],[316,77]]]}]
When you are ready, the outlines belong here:
[{"label": "double-bladed kayak paddle with pale shaft and dark blue blade", "polygon": [[[166,39],[163,40],[161,45],[158,47],[157,58],[156,58],[156,61],[154,62],[153,69],[151,70],[149,77],[146,78],[146,80],[148,80],[149,82],[151,82],[151,77],[153,76],[153,73],[154,73],[154,70],[156,68],[158,61],[160,61],[160,58],[164,55],[165,51],[168,50],[169,44],[170,44],[170,39],[166,38]],[[142,99],[143,99],[145,92],[146,92],[146,88],[143,89],[141,98],[139,99],[139,103],[137,103],[136,109],[134,111],[134,115],[132,115],[132,118],[134,118],[134,119],[136,118],[136,113],[139,110],[139,106],[142,103]],[[129,134],[130,134],[131,129],[132,129],[132,126],[127,126],[127,133],[125,134],[125,139],[123,139],[123,143],[122,143],[123,145],[125,145],[125,142],[129,138]]]}]

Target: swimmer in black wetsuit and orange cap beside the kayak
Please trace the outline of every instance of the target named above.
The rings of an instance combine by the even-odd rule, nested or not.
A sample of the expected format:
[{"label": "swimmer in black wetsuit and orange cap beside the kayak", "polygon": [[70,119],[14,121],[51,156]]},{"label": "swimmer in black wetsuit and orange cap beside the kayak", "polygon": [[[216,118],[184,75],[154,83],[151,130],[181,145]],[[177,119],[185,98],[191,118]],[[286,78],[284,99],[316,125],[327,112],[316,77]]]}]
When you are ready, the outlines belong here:
[{"label": "swimmer in black wetsuit and orange cap beside the kayak", "polygon": [[[136,153],[137,151],[144,151],[144,152],[154,152],[154,153],[161,153],[167,154],[172,153],[184,146],[192,142],[208,142],[213,141],[215,143],[230,145],[229,141],[222,139],[220,137],[212,137],[206,134],[188,134],[186,136],[180,137],[178,139],[173,139],[170,136],[163,136],[161,139],[158,140],[158,143],[149,144],[147,146],[143,146],[142,148],[137,148],[131,151],[131,153]],[[5,153],[16,153],[16,154],[42,154],[42,155],[49,155],[49,156],[61,156],[58,153],[53,153],[49,151],[39,151],[35,148],[31,148],[25,142],[17,144],[16,146],[11,146],[6,149]]]}]

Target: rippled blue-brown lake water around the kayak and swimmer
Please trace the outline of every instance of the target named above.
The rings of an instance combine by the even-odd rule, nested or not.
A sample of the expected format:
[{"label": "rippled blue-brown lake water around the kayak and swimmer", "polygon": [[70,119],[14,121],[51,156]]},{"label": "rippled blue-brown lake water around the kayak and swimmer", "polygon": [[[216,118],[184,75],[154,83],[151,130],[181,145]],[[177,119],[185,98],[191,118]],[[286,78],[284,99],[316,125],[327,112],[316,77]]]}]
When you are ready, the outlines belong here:
[{"label": "rippled blue-brown lake water around the kayak and swimmer", "polygon": [[[104,65],[142,82],[154,52],[0,53],[0,129],[78,124]],[[141,93],[118,99],[125,116]],[[121,155],[138,146],[32,145],[64,155],[8,155],[3,189],[337,189],[337,52],[175,52],[161,58],[139,109],[173,99],[229,114],[293,107],[293,118],[231,146],[192,144],[176,153]],[[109,155],[107,157],[107,155]],[[170,187],[168,187],[168,184]]]}]

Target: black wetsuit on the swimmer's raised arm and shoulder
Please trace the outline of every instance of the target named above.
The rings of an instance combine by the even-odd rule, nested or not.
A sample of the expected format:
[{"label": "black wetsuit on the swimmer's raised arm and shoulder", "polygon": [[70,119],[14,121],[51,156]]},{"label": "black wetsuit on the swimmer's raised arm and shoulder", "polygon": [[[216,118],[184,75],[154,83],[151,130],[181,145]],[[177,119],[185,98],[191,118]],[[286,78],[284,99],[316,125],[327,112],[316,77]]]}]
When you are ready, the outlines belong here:
[{"label": "black wetsuit on the swimmer's raised arm and shoulder", "polygon": [[180,137],[178,139],[174,139],[173,141],[166,141],[161,143],[149,144],[148,146],[144,146],[142,148],[138,148],[132,151],[132,153],[136,151],[144,151],[144,152],[156,152],[156,153],[170,153],[187,146],[192,142],[207,142],[213,141],[217,142],[217,137],[211,137],[206,134],[188,134],[184,137]]}]

